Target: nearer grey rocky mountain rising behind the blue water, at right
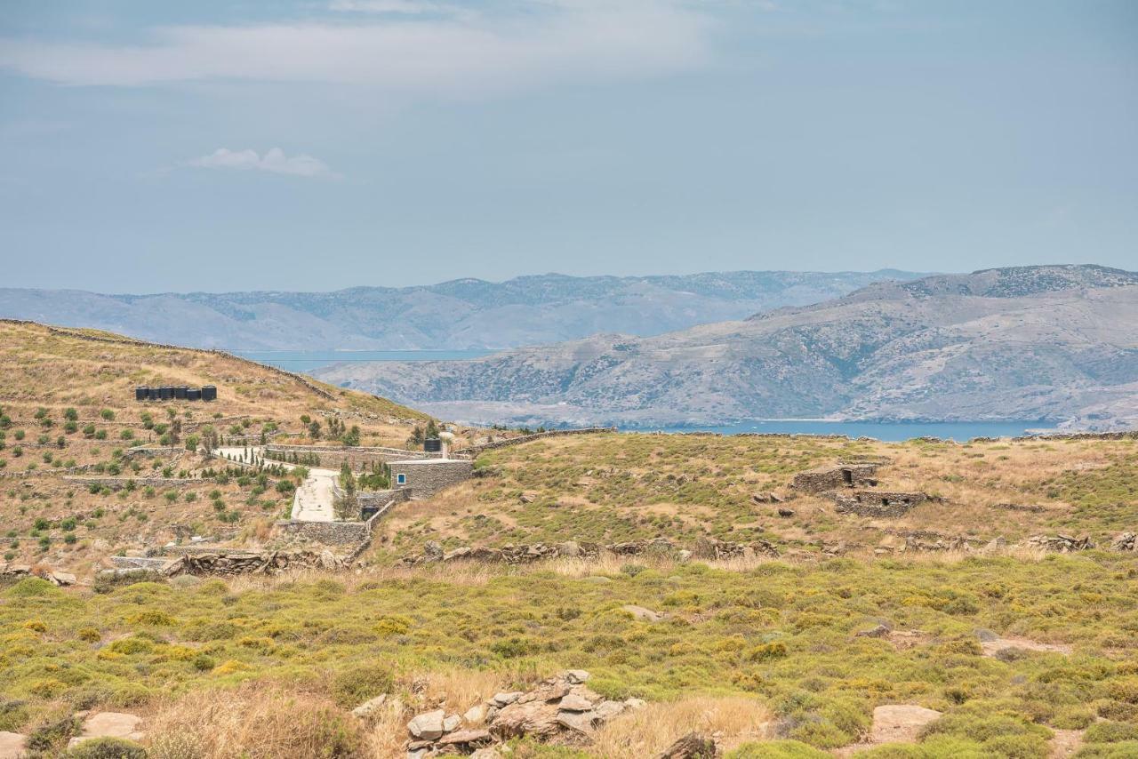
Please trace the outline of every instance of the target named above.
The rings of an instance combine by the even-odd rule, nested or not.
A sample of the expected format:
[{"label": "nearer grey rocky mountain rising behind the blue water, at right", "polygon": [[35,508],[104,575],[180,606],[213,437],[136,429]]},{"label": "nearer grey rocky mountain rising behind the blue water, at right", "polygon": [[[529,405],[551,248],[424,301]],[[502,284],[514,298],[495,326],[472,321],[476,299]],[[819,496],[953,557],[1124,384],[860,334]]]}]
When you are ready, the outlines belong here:
[{"label": "nearer grey rocky mountain rising behind the blue water, at right", "polygon": [[655,337],[315,373],[461,421],[1040,419],[1107,429],[1138,422],[1138,273],[932,275]]}]

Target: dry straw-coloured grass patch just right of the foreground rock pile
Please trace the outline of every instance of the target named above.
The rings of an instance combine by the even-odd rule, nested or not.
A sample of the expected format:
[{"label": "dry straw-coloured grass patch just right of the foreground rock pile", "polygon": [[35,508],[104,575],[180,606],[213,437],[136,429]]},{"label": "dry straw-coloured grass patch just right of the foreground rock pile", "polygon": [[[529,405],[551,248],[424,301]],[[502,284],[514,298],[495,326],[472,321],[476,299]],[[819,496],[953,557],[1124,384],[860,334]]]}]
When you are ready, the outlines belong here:
[{"label": "dry straw-coloured grass patch just right of the foreground rock pile", "polygon": [[608,759],[653,757],[693,731],[714,734],[731,750],[769,735],[770,712],[756,699],[692,696],[651,703],[611,720],[596,733],[591,749]]}]

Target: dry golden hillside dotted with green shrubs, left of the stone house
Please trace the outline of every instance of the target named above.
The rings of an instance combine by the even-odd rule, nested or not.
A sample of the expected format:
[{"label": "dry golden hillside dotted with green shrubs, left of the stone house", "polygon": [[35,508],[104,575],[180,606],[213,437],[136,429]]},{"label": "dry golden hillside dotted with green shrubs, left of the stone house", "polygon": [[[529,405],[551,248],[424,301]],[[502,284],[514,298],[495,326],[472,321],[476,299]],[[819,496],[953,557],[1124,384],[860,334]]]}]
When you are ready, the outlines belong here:
[{"label": "dry golden hillside dotted with green shrubs, left of the stone house", "polygon": [[[217,399],[140,403],[137,385],[214,385]],[[426,419],[228,354],[0,322],[3,561],[82,574],[108,554],[193,535],[255,544],[288,517],[296,482],[226,472],[198,442],[211,429],[231,445],[280,435],[308,442],[302,416],[325,429],[343,420],[365,445],[398,446]],[[134,482],[113,489],[102,478]]]}]

